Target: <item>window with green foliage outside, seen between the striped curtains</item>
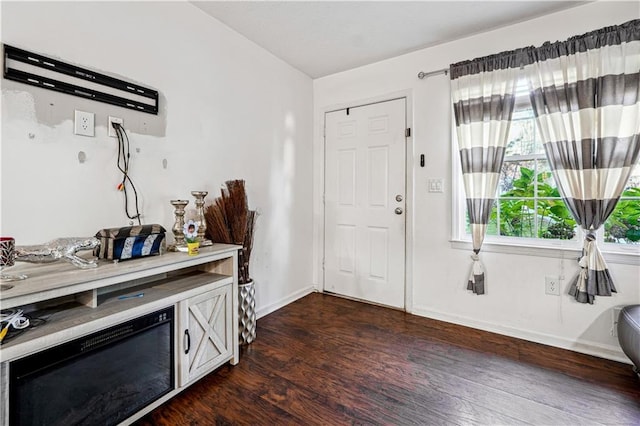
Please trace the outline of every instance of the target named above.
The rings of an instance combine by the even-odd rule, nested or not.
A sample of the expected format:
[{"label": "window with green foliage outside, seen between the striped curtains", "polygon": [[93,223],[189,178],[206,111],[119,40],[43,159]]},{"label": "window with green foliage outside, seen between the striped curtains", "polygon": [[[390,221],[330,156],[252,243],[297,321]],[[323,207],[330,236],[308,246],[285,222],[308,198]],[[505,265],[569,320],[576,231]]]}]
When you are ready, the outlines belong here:
[{"label": "window with green foliage outside, seen between the striped curtains", "polygon": [[[582,231],[562,201],[553,179],[523,81],[518,85],[512,120],[485,241],[581,248]],[[457,161],[458,156],[454,158]],[[459,165],[454,170],[460,173]],[[464,221],[458,227],[464,231],[459,239],[469,240],[464,189],[461,179],[458,182],[461,194],[458,221]],[[598,233],[603,250],[631,247],[640,252],[640,166],[635,167],[616,209],[603,228],[604,231],[601,228]]]}]

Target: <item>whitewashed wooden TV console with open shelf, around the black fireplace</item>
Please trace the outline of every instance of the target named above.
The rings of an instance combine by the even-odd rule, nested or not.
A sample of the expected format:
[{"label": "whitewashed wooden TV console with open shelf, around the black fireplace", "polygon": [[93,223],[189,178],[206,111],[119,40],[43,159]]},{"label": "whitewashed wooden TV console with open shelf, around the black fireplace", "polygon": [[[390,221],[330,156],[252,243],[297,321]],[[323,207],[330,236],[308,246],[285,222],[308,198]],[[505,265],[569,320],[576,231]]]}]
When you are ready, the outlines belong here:
[{"label": "whitewashed wooden TV console with open shelf, around the black fireplace", "polygon": [[[123,424],[140,418],[224,363],[237,364],[240,248],[214,244],[201,248],[197,256],[178,252],[117,263],[101,260],[98,268],[88,270],[66,262],[16,264],[11,273],[25,273],[28,278],[11,283],[14,288],[0,294],[0,309],[60,308],[53,308],[46,323],[0,346],[1,424],[9,423],[11,361],[170,306],[176,313],[175,389]],[[130,294],[143,296],[119,298]],[[203,324],[203,318],[210,323],[205,320]],[[187,333],[190,345],[183,338]],[[201,340],[211,341],[200,344]]]}]

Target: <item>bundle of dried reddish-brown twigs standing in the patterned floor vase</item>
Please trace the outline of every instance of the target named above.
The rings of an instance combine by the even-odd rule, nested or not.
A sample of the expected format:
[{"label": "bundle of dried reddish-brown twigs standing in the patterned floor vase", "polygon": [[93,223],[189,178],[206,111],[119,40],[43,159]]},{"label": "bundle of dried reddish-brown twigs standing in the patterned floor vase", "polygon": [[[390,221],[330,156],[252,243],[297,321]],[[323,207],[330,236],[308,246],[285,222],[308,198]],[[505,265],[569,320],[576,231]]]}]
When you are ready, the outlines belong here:
[{"label": "bundle of dried reddish-brown twigs standing in the patterned floor vase", "polygon": [[205,209],[207,237],[215,243],[238,244],[238,282],[251,281],[249,258],[253,247],[253,231],[258,214],[249,210],[244,180],[225,182],[220,197]]}]

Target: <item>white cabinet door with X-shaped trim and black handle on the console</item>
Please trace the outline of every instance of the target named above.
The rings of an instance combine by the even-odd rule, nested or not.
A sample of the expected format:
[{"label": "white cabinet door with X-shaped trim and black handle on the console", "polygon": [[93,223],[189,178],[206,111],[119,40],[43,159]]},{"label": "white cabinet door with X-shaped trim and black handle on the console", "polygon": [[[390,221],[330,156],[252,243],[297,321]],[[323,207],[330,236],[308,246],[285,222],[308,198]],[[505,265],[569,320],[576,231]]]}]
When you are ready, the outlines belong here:
[{"label": "white cabinet door with X-shaped trim and black handle on the console", "polygon": [[215,370],[233,352],[232,287],[225,285],[178,304],[182,330],[180,386]]}]

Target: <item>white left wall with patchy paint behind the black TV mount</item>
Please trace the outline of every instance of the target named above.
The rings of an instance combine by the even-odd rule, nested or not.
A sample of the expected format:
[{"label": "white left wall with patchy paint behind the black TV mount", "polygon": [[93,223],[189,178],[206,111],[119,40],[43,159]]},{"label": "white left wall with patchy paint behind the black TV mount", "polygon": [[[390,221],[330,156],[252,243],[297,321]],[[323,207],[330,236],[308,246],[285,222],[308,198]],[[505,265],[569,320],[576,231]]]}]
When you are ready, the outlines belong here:
[{"label": "white left wall with patchy paint behind the black TV mount", "polygon": [[[152,117],[3,80],[3,236],[37,244],[129,224],[111,114],[130,129],[144,223],[170,230],[169,200],[190,200],[192,214],[192,190],[211,201],[225,180],[243,178],[260,211],[259,315],[311,290],[309,77],[186,2],[3,1],[2,42],[155,88],[162,110]],[[96,137],[73,134],[75,108],[96,112]],[[141,130],[143,120],[160,130]]]}]

